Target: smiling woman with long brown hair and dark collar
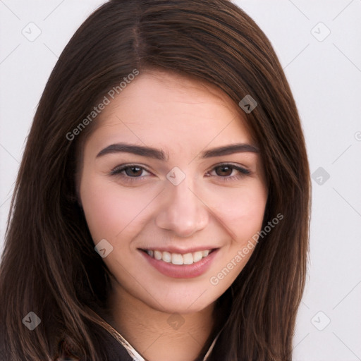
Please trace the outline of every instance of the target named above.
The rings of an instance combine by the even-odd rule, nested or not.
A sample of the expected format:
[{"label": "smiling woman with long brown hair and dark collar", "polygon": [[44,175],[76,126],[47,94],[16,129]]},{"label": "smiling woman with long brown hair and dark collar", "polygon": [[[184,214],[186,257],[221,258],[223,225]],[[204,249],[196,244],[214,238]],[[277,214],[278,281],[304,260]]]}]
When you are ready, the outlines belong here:
[{"label": "smiling woman with long brown hair and dark collar", "polygon": [[309,178],[288,82],[243,11],[107,2],[27,140],[1,359],[291,360]]}]

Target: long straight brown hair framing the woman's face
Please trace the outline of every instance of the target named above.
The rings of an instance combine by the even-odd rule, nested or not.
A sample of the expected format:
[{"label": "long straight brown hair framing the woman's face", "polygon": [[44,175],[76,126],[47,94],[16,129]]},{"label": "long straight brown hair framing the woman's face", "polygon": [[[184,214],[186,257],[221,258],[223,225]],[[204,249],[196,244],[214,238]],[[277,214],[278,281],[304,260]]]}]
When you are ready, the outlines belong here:
[{"label": "long straight brown hair framing the woman's face", "polygon": [[[229,317],[211,361],[291,360],[305,286],[310,174],[295,101],[262,30],[227,0],[112,0],[85,20],[63,50],[40,99],[11,203],[0,276],[6,360],[54,360],[71,348],[104,360],[92,325],[109,274],[77,202],[82,140],[72,132],[109,90],[137,69],[173,71],[219,87],[255,136],[267,175],[264,235],[222,298]],[[94,120],[94,122],[97,120]],[[29,331],[22,319],[42,320]],[[66,340],[66,346],[64,345]]]}]

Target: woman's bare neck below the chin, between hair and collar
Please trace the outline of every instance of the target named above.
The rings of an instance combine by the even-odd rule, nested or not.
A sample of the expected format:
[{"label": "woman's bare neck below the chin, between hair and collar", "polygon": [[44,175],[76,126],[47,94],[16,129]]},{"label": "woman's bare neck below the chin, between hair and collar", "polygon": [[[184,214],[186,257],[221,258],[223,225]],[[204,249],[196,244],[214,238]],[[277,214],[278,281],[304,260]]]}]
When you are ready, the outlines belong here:
[{"label": "woman's bare neck below the chin, between hair and collar", "polygon": [[113,326],[148,361],[197,360],[214,337],[214,303],[192,314],[171,314],[116,286],[109,307]]}]

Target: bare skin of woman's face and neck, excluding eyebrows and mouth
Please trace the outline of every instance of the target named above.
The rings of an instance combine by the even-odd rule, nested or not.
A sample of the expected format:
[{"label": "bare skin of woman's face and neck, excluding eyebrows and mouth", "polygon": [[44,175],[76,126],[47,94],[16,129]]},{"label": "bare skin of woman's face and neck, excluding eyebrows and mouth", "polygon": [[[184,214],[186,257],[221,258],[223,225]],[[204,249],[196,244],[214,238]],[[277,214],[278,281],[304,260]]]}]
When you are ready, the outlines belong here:
[{"label": "bare skin of woman's face and neck, excluding eyebrows and mouth", "polygon": [[[118,142],[155,147],[169,158],[126,152],[97,157]],[[142,73],[127,85],[102,111],[85,142],[80,202],[94,244],[106,239],[113,247],[104,258],[114,276],[109,308],[116,329],[147,360],[169,361],[169,355],[173,361],[195,360],[212,341],[214,302],[252,255],[250,250],[235,262],[218,284],[210,282],[261,230],[267,202],[259,153],[200,157],[235,143],[257,146],[224,92],[158,71]],[[222,172],[219,166],[225,163],[250,174]],[[145,170],[133,177],[126,171],[111,174],[123,164]],[[175,166],[185,174],[178,185],[166,178]],[[140,250],[169,245],[219,250],[204,274],[175,279],[152,267]],[[181,322],[178,329],[169,320],[172,314]]]}]

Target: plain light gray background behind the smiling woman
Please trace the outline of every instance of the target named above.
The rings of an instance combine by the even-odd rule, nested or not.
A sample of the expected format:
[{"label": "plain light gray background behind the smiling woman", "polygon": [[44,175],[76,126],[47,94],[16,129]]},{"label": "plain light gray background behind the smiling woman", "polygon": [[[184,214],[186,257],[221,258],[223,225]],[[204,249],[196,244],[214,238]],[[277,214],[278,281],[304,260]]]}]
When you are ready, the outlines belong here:
[{"label": "plain light gray background behind the smiling woman", "polygon": [[[44,85],[75,30],[103,2],[0,0],[0,250]],[[361,0],[235,2],[274,45],[298,104],[311,171],[322,167],[312,180],[310,272],[294,360],[361,360]]]}]

